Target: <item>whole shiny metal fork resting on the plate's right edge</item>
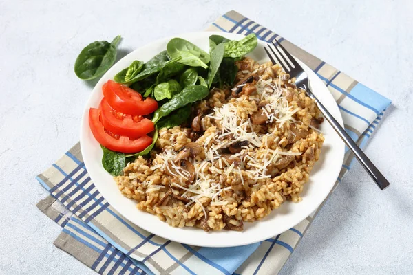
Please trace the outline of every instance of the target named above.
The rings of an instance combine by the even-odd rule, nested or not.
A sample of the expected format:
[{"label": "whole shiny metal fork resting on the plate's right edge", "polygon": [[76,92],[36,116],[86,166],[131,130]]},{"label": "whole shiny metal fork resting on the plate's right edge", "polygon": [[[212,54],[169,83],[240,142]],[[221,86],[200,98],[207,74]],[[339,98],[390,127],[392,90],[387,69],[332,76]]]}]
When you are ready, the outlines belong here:
[{"label": "whole shiny metal fork resting on the plate's right edge", "polygon": [[[324,118],[326,118],[326,120],[331,124],[332,128],[335,129],[337,134],[339,134],[341,140],[343,140],[348,148],[350,148],[350,151],[352,151],[363,168],[366,169],[377,186],[379,186],[381,190],[387,188],[390,185],[389,181],[385,179],[383,174],[381,174],[379,169],[377,169],[377,167],[374,166],[370,159],[368,159],[366,154],[361,151],[361,148],[357,146],[356,142],[351,139],[350,135],[346,133],[343,127],[341,127],[339,122],[335,120],[335,118],[326,109],[326,107],[324,107],[324,105],[321,104],[321,102],[319,102],[319,100],[314,96],[313,92],[310,89],[310,85],[308,85],[308,76],[306,72],[304,72],[304,69],[297,63],[295,58],[293,58],[293,56],[291,56],[291,54],[289,54],[286,49],[284,49],[281,43],[279,43],[277,40],[275,41],[277,42],[279,47],[277,47],[274,42],[271,42],[271,44],[268,43],[266,47],[264,47],[264,50],[271,59],[271,62],[273,64],[278,63],[279,65],[281,65],[284,71],[290,74],[290,78],[295,78],[295,85],[297,85],[299,89],[306,91],[307,95],[310,98],[315,99],[315,103],[317,104],[317,107],[319,108],[321,113],[324,115]],[[267,47],[273,54],[270,54],[270,52],[267,50]]]}]

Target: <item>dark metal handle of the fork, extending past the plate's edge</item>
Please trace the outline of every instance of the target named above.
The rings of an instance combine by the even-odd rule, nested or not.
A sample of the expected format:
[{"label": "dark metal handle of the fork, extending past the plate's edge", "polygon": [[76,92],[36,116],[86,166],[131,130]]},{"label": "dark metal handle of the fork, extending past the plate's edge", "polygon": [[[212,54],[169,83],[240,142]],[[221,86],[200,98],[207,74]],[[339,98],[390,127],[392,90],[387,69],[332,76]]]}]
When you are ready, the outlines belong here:
[{"label": "dark metal handle of the fork, extending past the plate's edge", "polygon": [[348,148],[350,148],[350,151],[352,151],[354,156],[360,162],[361,166],[363,166],[363,168],[366,169],[367,173],[370,175],[370,177],[372,177],[377,186],[379,186],[381,190],[387,188],[390,185],[389,181],[385,179],[383,174],[380,173],[379,169],[377,169],[376,166],[374,166],[374,164],[370,161],[367,155],[363,153],[363,151],[361,151],[361,148],[357,145],[356,142],[354,142],[354,140],[352,140],[350,135],[348,135],[346,130],[344,130],[343,127],[341,127],[339,122],[335,120],[335,118],[326,109],[326,107],[324,107],[324,105],[321,104],[321,102],[319,102],[319,100],[314,96],[313,92],[310,91],[309,88],[307,88],[306,90],[308,92],[308,96],[310,96],[310,98],[315,99],[315,103],[317,104],[317,107],[319,108],[321,113],[324,115],[324,118],[326,118],[328,123],[331,124],[332,128],[335,129],[335,131],[339,134],[341,140],[343,140],[343,142],[348,146]]}]

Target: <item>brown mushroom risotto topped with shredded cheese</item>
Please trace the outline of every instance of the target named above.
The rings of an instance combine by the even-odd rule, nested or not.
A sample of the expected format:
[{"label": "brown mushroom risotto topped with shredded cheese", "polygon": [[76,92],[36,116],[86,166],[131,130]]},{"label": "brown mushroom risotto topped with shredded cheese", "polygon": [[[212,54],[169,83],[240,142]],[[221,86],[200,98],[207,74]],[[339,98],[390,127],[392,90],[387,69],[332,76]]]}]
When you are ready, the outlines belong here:
[{"label": "brown mushroom risotto topped with shredded cheese", "polygon": [[324,142],[319,110],[278,65],[237,66],[232,89],[212,89],[187,125],[160,129],[150,157],[114,177],[138,209],[180,228],[241,231],[301,201]]}]

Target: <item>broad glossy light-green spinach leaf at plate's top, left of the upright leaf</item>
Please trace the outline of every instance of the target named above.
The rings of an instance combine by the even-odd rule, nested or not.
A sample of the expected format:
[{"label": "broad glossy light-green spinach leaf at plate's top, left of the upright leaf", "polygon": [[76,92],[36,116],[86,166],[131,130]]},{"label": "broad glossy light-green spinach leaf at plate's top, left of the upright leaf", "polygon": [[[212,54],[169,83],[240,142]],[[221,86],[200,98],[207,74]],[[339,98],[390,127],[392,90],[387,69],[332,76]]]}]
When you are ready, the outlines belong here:
[{"label": "broad glossy light-green spinach leaf at plate's top, left of the upright leaf", "polygon": [[167,52],[171,58],[180,57],[179,63],[208,68],[209,54],[185,39],[171,39],[167,44]]}]

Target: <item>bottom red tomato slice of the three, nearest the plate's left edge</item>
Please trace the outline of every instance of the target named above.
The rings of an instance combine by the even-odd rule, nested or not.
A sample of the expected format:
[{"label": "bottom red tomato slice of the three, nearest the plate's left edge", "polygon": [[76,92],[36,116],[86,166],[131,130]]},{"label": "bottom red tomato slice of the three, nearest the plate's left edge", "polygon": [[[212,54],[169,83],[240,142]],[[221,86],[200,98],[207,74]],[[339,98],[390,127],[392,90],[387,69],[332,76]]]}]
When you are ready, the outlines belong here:
[{"label": "bottom red tomato slice of the three, nearest the plate's left edge", "polygon": [[121,153],[137,153],[145,150],[152,143],[152,138],[142,135],[136,140],[129,140],[129,137],[120,135],[110,135],[105,131],[102,122],[99,120],[99,109],[89,109],[89,126],[96,140],[109,150]]}]

